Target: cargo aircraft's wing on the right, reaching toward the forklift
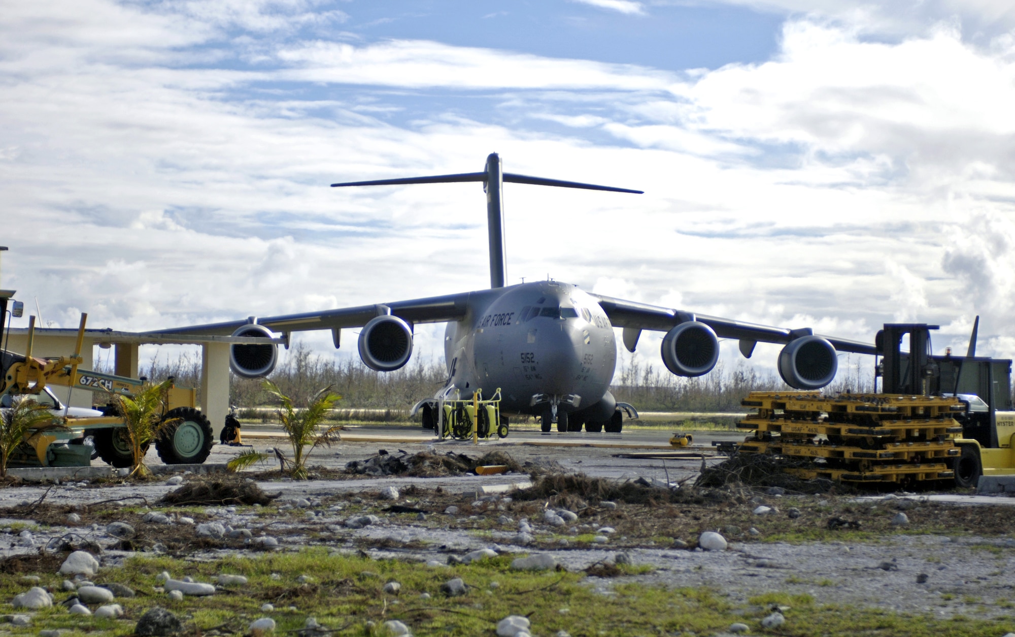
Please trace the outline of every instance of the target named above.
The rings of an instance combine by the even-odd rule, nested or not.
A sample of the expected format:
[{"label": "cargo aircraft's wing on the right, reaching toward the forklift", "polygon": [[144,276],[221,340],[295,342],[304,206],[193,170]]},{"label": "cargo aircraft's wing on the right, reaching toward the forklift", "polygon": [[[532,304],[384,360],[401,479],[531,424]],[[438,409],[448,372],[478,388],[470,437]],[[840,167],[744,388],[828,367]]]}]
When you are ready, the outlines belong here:
[{"label": "cargo aircraft's wing on the right, reaching toward the forklift", "polygon": [[[811,333],[809,329],[770,327],[768,325],[734,321],[718,316],[692,314],[690,312],[682,312],[680,310],[672,310],[645,303],[635,303],[633,301],[624,301],[602,295],[594,294],[591,296],[599,301],[600,307],[606,312],[606,316],[609,317],[610,322],[616,327],[623,327],[625,331],[640,329],[669,331],[678,323],[697,320],[710,327],[720,338],[736,338],[742,341],[787,343],[794,338]],[[821,337],[827,339],[839,352],[875,354],[874,343],[836,338],[835,336],[822,335]],[[626,343],[626,334],[624,340]],[[750,351],[750,347],[748,351]]]}]

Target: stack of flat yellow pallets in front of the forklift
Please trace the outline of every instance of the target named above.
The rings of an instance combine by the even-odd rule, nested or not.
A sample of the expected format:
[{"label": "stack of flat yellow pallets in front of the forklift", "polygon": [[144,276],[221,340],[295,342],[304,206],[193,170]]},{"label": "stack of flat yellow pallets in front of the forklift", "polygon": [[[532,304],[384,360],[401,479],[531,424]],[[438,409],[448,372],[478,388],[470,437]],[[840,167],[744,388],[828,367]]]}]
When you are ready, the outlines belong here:
[{"label": "stack of flat yellow pallets in front of the forklift", "polygon": [[754,407],[737,424],[753,430],[740,453],[810,459],[787,468],[802,479],[845,482],[935,481],[954,477],[962,433],[952,413],[956,398],[812,391],[755,391],[741,401]]}]

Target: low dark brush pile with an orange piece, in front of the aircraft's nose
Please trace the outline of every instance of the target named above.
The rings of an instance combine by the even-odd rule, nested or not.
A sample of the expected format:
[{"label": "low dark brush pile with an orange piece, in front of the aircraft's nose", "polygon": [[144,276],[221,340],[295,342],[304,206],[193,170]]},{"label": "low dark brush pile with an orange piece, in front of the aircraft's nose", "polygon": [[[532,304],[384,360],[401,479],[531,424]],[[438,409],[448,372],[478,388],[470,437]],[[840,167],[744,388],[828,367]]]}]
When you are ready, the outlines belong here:
[{"label": "low dark brush pile with an orange piece, in front of the aircraft's nose", "polygon": [[477,466],[490,464],[502,464],[509,471],[516,473],[526,472],[530,468],[536,469],[538,465],[526,461],[519,463],[503,451],[490,451],[478,458],[473,458],[464,453],[436,453],[433,451],[421,451],[419,453],[406,453],[398,451],[388,453],[381,450],[365,460],[352,460],[346,463],[347,473],[358,473],[366,475],[407,475],[411,477],[439,477],[443,475],[464,475],[475,472]]}]

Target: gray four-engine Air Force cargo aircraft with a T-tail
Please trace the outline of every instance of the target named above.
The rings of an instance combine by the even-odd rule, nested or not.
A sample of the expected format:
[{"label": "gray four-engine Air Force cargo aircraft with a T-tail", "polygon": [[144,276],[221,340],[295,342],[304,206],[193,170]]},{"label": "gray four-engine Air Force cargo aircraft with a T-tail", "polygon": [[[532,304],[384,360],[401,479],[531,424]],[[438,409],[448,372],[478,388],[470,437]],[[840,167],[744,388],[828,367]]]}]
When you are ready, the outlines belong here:
[{"label": "gray four-engine Air Force cargo aircraft with a T-tail", "polygon": [[[786,343],[777,369],[786,384],[818,389],[832,381],[836,351],[875,353],[874,345],[814,334],[810,328],[787,329],[743,323],[642,303],[590,294],[554,280],[504,284],[503,183],[583,188],[622,193],[637,190],[566,182],[503,173],[500,157],[491,153],[479,173],[386,179],[332,184],[335,187],[390,186],[448,182],[482,182],[486,191],[490,255],[490,289],[443,297],[396,301],[337,310],[288,314],[208,325],[159,330],[161,334],[206,334],[288,339],[291,332],[331,330],[335,347],[343,328],[361,328],[359,356],[370,369],[392,372],[412,356],[413,328],[418,323],[447,323],[445,361],[448,380],[432,397],[413,407],[423,427],[434,427],[441,400],[471,398],[479,388],[487,395],[501,389],[503,412],[541,419],[542,430],[617,432],[623,412],[636,417],[631,405],[618,403],[609,391],[616,366],[614,327],[634,352],[642,330],[666,332],[663,363],[678,376],[707,374],[719,360],[719,339],[739,340],[750,358],[758,341]],[[277,346],[231,345],[229,364],[244,378],[267,376],[275,367]]]}]

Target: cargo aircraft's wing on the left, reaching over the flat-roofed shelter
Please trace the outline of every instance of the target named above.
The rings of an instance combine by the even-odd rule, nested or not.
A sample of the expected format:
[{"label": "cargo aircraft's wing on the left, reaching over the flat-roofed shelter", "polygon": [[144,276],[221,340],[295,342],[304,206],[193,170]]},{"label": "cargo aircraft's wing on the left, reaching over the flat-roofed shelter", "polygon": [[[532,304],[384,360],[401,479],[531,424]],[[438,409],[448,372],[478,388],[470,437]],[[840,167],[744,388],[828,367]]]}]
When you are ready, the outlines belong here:
[{"label": "cargo aircraft's wing on the left, reaching over the flat-roofed shelter", "polygon": [[[412,301],[397,301],[378,305],[361,305],[353,308],[337,310],[322,310],[320,312],[304,312],[302,314],[283,314],[281,316],[257,317],[257,323],[275,332],[298,332],[316,329],[341,329],[343,327],[362,327],[375,316],[393,314],[407,323],[443,323],[457,321],[465,316],[471,297],[482,293],[464,293],[414,299]],[[208,323],[205,325],[188,325],[160,329],[146,334],[192,334],[192,335],[229,335],[240,327],[249,325],[249,319],[226,321],[224,323]]]}]

